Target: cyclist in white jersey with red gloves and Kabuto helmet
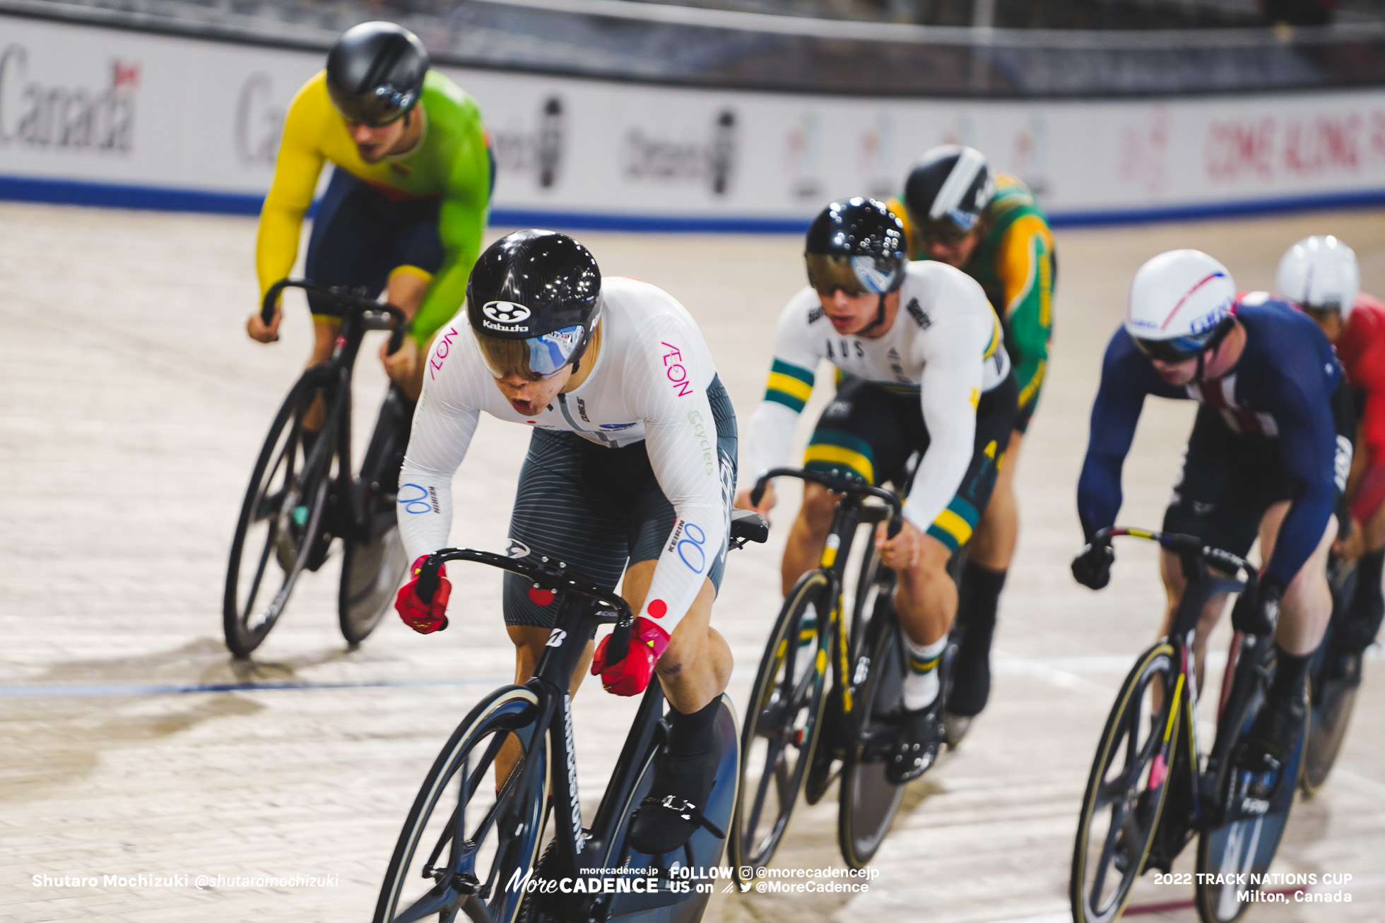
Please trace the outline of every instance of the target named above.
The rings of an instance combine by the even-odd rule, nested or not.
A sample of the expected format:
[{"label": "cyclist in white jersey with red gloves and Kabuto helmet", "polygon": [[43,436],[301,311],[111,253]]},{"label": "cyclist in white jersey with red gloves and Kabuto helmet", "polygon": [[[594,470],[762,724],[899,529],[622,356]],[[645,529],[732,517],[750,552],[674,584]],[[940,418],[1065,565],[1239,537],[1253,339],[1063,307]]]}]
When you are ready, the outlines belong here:
[{"label": "cyclist in white jersey with red gloves and Kabuto helmet", "polygon": [[[611,663],[604,639],[591,673],[622,696],[644,692],[655,673],[663,684],[673,710],[650,792],[659,803],[640,807],[630,841],[647,854],[676,850],[715,782],[715,720],[731,673],[730,648],[709,623],[727,549],[735,417],[702,333],[654,285],[602,280],[566,235],[519,231],[481,255],[465,311],[428,357],[400,473],[400,534],[416,560],[396,607],[424,634],[446,625],[450,588],[440,580],[425,603],[417,573],[422,556],[447,545],[452,477],[481,411],[533,429],[510,554],[566,562],[611,590],[625,573],[622,595],[638,613],[630,652]],[[519,682],[548,641],[551,602],[506,576]]]}]

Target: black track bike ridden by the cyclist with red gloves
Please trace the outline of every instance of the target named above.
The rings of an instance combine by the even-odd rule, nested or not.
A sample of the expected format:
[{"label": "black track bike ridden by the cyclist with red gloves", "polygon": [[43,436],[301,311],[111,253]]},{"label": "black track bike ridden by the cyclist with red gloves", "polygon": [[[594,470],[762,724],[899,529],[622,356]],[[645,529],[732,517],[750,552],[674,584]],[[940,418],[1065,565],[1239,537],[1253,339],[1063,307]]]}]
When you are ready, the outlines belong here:
[{"label": "black track bike ridden by the cyclist with red gloves", "polygon": [[[769,524],[758,515],[734,513],[733,548],[767,536]],[[668,733],[662,688],[651,682],[640,700],[590,826],[582,823],[578,800],[568,695],[568,682],[597,625],[615,624],[612,663],[629,650],[634,623],[629,605],[562,562],[456,548],[428,558],[418,578],[421,598],[432,598],[438,567],[454,560],[500,567],[532,581],[530,598],[557,607],[555,627],[533,678],[482,699],[438,754],[395,846],[375,923],[701,919],[711,891],[699,891],[676,869],[711,868],[722,857],[740,764],[730,699],[722,696],[716,724],[722,762],[709,803],[699,805],[702,826],[673,854],[634,852],[626,830],[648,794],[654,758]],[[515,762],[508,775],[497,778],[494,762],[501,750]],[[550,823],[553,839],[540,858]],[[580,890],[575,890],[579,879]]]}]

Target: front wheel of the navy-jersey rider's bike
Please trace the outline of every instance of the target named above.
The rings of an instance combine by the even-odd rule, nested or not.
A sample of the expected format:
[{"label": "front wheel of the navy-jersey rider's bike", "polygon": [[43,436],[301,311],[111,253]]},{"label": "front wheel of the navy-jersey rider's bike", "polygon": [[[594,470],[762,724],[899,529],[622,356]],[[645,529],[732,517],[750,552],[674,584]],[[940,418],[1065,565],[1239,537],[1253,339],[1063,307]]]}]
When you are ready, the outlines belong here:
[{"label": "front wheel of the navy-jersey rider's bike", "polygon": [[[1168,642],[1150,648],[1107,717],[1072,851],[1068,895],[1073,923],[1109,923],[1120,916],[1150,855],[1169,790],[1186,693],[1174,679],[1174,657]],[[1158,709],[1151,695],[1155,689],[1162,695]]]}]

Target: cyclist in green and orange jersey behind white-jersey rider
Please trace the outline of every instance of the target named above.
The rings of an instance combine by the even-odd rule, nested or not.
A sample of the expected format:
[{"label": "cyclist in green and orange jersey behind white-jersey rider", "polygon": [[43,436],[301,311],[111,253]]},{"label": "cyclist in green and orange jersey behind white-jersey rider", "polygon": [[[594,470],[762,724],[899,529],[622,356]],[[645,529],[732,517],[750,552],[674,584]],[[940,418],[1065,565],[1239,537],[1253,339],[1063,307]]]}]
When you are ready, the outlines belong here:
[{"label": "cyclist in green and orange jersey behind white-jersey rider", "polygon": [[964,634],[943,707],[947,740],[957,743],[990,696],[996,609],[1019,536],[1015,465],[1048,368],[1057,257],[1048,219],[1033,192],[1012,176],[993,173],[975,148],[931,148],[910,170],[903,201],[889,205],[904,221],[910,259],[947,263],[981,282],[1004,324],[1019,389],[1006,464],[961,572],[957,619]]}]

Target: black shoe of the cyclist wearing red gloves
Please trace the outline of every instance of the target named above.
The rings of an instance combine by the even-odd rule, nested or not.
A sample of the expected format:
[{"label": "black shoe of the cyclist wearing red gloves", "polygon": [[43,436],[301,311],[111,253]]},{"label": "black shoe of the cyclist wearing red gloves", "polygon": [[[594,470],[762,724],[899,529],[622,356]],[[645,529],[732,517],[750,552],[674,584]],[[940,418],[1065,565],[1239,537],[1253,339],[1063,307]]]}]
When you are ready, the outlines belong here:
[{"label": "black shoe of the cyclist wearing red gloves", "polygon": [[654,758],[654,783],[630,819],[627,841],[637,852],[662,855],[680,850],[706,828],[719,839],[726,832],[708,821],[702,811],[716,785],[722,764],[722,739],[712,738],[712,749],[695,756],[674,757],[668,747]]}]

